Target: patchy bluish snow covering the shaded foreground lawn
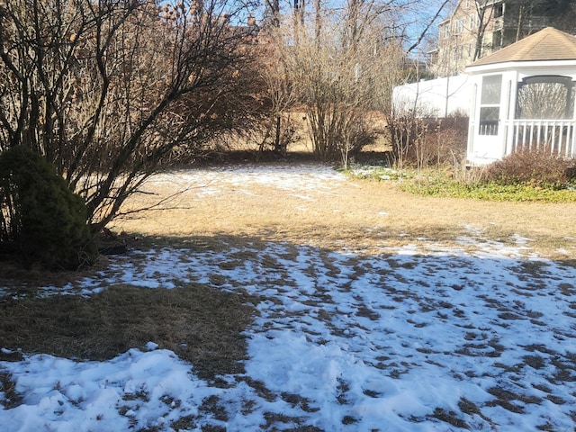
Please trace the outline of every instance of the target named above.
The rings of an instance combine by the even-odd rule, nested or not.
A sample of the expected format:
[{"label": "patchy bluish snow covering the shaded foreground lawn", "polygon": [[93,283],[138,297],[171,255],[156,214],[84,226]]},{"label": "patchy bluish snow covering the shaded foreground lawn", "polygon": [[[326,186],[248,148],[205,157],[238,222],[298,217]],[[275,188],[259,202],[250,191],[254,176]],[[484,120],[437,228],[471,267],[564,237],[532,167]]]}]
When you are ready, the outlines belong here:
[{"label": "patchy bluish snow covering the shaded foreground lawn", "polygon": [[[307,175],[283,184],[310,196]],[[328,192],[343,181],[326,178]],[[47,286],[252,293],[246,372],[202,380],[153,340],[108,362],[24,356],[0,362],[1,430],[573,431],[576,269],[538,257],[526,238],[468,232],[451,247],[370,253],[289,241],[163,247]]]}]

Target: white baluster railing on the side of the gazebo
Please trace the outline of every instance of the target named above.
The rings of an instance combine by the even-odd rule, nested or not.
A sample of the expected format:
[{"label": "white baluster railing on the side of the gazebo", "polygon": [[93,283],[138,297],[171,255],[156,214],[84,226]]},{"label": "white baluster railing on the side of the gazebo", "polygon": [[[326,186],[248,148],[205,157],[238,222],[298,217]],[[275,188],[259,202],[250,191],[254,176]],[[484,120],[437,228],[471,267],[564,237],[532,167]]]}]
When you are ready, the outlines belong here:
[{"label": "white baluster railing on the side of the gazebo", "polygon": [[[576,121],[514,120],[507,153],[521,150],[549,150],[560,157],[576,157]],[[510,142],[510,141],[509,141]]]}]

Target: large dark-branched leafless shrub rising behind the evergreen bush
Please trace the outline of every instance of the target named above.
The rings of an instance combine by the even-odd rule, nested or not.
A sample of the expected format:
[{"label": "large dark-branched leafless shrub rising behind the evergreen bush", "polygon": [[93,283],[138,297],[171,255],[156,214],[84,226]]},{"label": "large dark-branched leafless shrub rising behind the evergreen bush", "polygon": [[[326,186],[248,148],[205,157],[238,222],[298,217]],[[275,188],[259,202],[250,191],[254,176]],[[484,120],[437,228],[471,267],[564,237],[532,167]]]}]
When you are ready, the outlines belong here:
[{"label": "large dark-branched leafless shrub rising behind the evergreen bush", "polygon": [[246,8],[0,1],[0,149],[45,156],[103,227],[175,148],[193,152],[251,118],[252,35],[230,25]]}]

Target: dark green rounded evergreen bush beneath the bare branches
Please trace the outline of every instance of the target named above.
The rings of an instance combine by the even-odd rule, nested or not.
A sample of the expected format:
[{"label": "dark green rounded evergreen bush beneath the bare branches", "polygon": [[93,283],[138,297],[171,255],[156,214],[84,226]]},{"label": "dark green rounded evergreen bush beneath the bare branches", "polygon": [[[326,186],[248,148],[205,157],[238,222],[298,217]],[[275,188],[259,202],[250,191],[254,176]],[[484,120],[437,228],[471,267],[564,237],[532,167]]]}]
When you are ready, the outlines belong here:
[{"label": "dark green rounded evergreen bush beneath the bare branches", "polygon": [[97,256],[84,200],[31,150],[0,153],[0,210],[0,239],[15,243],[26,266],[76,269]]}]

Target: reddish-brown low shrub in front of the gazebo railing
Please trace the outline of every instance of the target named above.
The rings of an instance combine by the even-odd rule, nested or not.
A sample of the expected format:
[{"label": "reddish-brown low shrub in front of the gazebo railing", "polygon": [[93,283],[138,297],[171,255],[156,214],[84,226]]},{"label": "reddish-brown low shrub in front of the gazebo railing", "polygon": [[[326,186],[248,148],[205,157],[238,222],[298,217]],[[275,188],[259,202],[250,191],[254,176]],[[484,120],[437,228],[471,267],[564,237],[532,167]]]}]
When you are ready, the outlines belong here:
[{"label": "reddish-brown low shrub in front of the gazebo railing", "polygon": [[562,189],[576,180],[575,167],[575,159],[554,156],[547,148],[522,150],[488,166],[485,181]]}]

